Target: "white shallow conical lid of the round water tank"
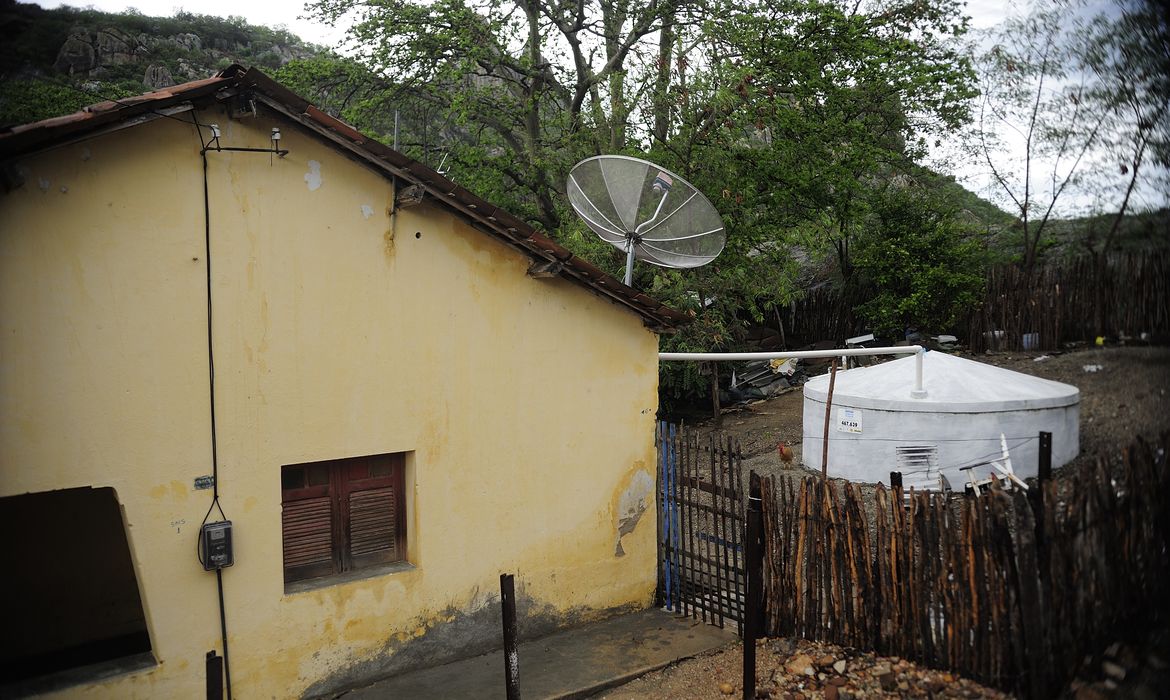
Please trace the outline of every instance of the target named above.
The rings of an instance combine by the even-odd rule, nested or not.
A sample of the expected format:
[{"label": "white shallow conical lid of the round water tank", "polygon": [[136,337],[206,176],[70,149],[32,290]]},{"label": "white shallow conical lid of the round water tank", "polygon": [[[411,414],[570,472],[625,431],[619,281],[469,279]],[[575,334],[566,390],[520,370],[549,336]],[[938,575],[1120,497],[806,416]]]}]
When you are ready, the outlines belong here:
[{"label": "white shallow conical lid of the round water tank", "polygon": [[[913,398],[915,358],[840,371],[833,386],[834,406],[924,411],[932,413],[983,413],[1071,406],[1080,402],[1080,390],[1069,384],[1041,379],[973,359],[927,352],[922,358],[923,398]],[[806,399],[825,403],[828,375],[804,386]]]}]

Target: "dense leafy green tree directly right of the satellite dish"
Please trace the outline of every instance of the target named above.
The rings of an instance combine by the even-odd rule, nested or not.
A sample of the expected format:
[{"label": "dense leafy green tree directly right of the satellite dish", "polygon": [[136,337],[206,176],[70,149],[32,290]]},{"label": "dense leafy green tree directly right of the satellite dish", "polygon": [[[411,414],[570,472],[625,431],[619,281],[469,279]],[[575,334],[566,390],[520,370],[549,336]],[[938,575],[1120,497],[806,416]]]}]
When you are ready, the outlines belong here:
[{"label": "dense leafy green tree directly right of the satellite dish", "polygon": [[799,294],[798,254],[831,255],[853,283],[869,192],[968,116],[973,75],[954,46],[965,30],[957,13],[950,2],[782,0],[681,33],[706,68],[680,61],[676,125],[654,156],[714,195],[730,238],[683,282],[708,303],[687,307],[696,322],[663,345],[735,348],[746,324]]}]

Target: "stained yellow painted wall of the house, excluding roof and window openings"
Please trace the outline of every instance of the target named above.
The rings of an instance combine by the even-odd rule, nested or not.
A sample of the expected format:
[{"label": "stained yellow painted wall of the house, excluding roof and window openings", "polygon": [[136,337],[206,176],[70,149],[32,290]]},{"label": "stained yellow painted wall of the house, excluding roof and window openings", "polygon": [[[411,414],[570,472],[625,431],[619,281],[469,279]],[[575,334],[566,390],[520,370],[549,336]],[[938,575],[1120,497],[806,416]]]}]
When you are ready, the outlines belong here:
[{"label": "stained yellow painted wall of the house, excluding roof and window openings", "polygon": [[[266,147],[276,122],[218,122]],[[498,595],[651,603],[656,337],[641,320],[284,128],[211,153],[215,407],[234,689],[303,693]],[[158,658],[76,695],[195,698],[219,647],[199,139],[174,119],[19,164],[0,195],[0,496],[111,486]],[[281,465],[408,459],[414,568],[285,593]],[[615,556],[618,521],[648,508]],[[318,686],[319,687],[319,686]]]}]

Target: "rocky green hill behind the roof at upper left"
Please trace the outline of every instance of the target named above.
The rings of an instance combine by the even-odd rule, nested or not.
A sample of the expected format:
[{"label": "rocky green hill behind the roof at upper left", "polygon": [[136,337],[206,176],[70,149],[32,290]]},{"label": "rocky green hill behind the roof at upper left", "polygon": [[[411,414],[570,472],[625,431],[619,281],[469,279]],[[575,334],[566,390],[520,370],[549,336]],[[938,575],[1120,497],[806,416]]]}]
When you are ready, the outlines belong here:
[{"label": "rocky green hill behind the roof at upper left", "polygon": [[208,77],[232,63],[276,70],[324,52],[242,18],[149,18],[12,0],[0,0],[0,125]]}]

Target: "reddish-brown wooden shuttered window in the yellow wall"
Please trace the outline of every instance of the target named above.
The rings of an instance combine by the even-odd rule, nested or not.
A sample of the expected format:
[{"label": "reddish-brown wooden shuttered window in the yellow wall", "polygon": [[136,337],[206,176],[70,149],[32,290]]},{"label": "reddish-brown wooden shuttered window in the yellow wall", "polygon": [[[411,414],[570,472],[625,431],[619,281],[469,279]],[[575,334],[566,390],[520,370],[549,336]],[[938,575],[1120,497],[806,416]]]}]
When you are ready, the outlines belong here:
[{"label": "reddish-brown wooden shuttered window in the yellow wall", "polygon": [[[405,452],[283,465],[281,540],[285,585],[406,562],[405,486]],[[302,506],[290,508],[296,503]],[[387,503],[392,509],[388,514]],[[325,505],[328,558],[322,533]],[[355,531],[356,522],[362,531]],[[298,563],[290,565],[290,558]]]}]

